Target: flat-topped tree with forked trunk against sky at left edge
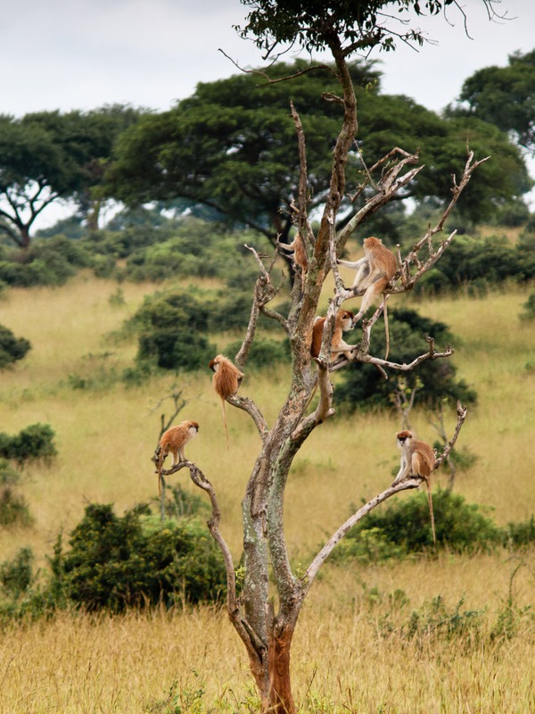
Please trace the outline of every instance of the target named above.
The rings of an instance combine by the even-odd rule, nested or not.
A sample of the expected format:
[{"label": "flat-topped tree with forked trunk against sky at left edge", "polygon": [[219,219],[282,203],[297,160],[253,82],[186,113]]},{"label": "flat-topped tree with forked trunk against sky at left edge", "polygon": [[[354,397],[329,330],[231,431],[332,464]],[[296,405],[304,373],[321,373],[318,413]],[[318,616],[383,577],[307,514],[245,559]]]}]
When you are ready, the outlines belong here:
[{"label": "flat-topped tree with forked trunk against sky at left edge", "polygon": [[72,198],[95,228],[103,168],[119,131],[138,112],[119,105],[93,112],[0,116],[0,232],[28,248],[30,229],[51,203]]}]

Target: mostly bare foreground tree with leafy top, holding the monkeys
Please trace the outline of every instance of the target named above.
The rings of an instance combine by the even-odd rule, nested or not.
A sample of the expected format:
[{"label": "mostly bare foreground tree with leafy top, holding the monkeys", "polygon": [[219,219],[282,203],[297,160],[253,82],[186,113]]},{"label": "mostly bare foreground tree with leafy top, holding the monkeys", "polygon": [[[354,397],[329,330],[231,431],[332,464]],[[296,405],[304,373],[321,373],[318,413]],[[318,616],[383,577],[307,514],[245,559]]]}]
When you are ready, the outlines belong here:
[{"label": "mostly bare foreground tree with leafy top, holding the monkeys", "polygon": [[[482,0],[490,9],[490,0]],[[188,468],[193,482],[210,495],[212,517],[210,532],[218,542],[226,564],[227,608],[232,624],[248,652],[251,674],[258,686],[262,712],[294,714],[296,706],[292,697],[290,677],[290,650],[292,635],[300,615],[302,604],[317,572],[325,559],[333,551],[350,527],[354,526],[366,513],[379,503],[401,491],[420,486],[420,479],[409,477],[395,486],[390,486],[377,494],[358,511],[353,513],[326,541],[323,548],[311,560],[304,574],[292,569],[290,555],[284,538],[284,492],[292,467],[292,461],[301,445],[325,419],[333,413],[333,386],[329,374],[333,369],[342,369],[350,363],[345,358],[331,355],[331,338],[336,311],[340,305],[362,294],[362,290],[347,289],[337,270],[336,258],[342,252],[350,234],[366,219],[388,203],[403,187],[406,187],[424,167],[418,164],[417,154],[409,154],[399,147],[374,166],[368,167],[364,179],[358,184],[350,184],[346,177],[348,154],[353,146],[358,130],[357,100],[348,71],[347,59],[358,49],[366,51],[374,46],[392,45],[396,36],[389,26],[389,16],[393,11],[419,14],[427,10],[438,13],[449,0],[426,0],[418,4],[407,0],[385,3],[369,0],[365,3],[339,2],[325,3],[324,0],[284,0],[276,4],[273,0],[243,0],[253,10],[248,16],[248,24],[242,29],[243,35],[251,32],[259,47],[273,53],[283,43],[293,43],[307,50],[328,49],[333,55],[336,78],[340,95],[325,96],[325,101],[338,104],[341,108],[341,128],[332,152],[332,169],[328,194],[317,230],[309,220],[309,184],[307,174],[306,137],[302,129],[299,113],[291,104],[291,113],[296,140],[300,152],[300,176],[298,190],[293,201],[295,222],[303,239],[308,255],[308,268],[302,280],[295,280],[292,286],[292,303],[287,316],[269,306],[276,295],[276,286],[271,280],[273,260],[264,264],[265,258],[250,247],[251,255],[259,265],[251,318],[240,351],[235,362],[245,369],[249,348],[255,336],[259,312],[276,320],[288,336],[292,350],[292,379],[284,403],[272,425],[268,425],[258,406],[242,395],[230,396],[227,402],[237,409],[246,411],[258,429],[260,449],[251,471],[243,496],[243,565],[244,576],[241,594],[236,589],[235,565],[224,536],[219,530],[219,509],[216,494],[208,478],[191,461],[183,461],[172,469],[173,473]],[[403,16],[404,12],[401,12]],[[397,14],[397,12],[396,12]],[[405,30],[405,41],[421,41],[413,30]],[[485,161],[485,159],[481,159]],[[429,270],[455,237],[455,230],[438,245],[432,238],[443,229],[457,199],[470,180],[473,170],[481,163],[475,161],[469,152],[459,179],[453,179],[452,197],[440,217],[439,222],[428,228],[423,237],[416,241],[410,252],[401,258],[399,272],[392,281],[388,293],[402,293],[412,289],[417,280]],[[349,179],[349,180],[347,180]],[[366,193],[365,193],[366,192]],[[336,229],[337,214],[345,195],[366,195],[366,200],[351,216],[342,229]],[[249,246],[248,246],[249,247]],[[312,328],[317,315],[317,304],[325,278],[333,272],[335,292],[330,300],[325,321],[321,351],[316,360],[310,357]],[[388,295],[384,296],[385,303]],[[371,330],[383,311],[383,303],[370,320],[362,324],[360,342],[352,351],[351,361],[374,364],[385,372],[407,372],[426,360],[445,359],[453,352],[447,346],[443,352],[435,350],[432,337],[421,355],[409,364],[386,361],[369,353]],[[333,359],[332,359],[333,358]],[[311,394],[318,386],[319,399],[316,408],[309,410]],[[309,413],[308,413],[309,412]],[[457,426],[449,444],[437,459],[436,465],[446,458],[457,439],[464,422],[466,410],[457,405]],[[276,587],[276,602],[268,583],[270,577]]]}]

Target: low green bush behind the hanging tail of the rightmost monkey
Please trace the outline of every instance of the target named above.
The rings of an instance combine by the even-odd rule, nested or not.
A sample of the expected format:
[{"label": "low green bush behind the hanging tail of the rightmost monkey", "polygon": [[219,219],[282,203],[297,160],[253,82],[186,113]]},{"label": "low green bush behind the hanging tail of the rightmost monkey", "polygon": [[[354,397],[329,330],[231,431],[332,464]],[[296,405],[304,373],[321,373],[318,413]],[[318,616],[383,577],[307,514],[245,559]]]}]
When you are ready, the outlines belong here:
[{"label": "low green bush behind the hanging tail of the rightmost monkey", "polygon": [[[504,531],[462,495],[438,489],[432,492],[432,505],[438,547],[473,552],[504,542]],[[372,560],[372,556],[384,560],[428,548],[432,548],[431,519],[427,494],[421,490],[370,513],[350,530],[333,556],[339,561]]]}]

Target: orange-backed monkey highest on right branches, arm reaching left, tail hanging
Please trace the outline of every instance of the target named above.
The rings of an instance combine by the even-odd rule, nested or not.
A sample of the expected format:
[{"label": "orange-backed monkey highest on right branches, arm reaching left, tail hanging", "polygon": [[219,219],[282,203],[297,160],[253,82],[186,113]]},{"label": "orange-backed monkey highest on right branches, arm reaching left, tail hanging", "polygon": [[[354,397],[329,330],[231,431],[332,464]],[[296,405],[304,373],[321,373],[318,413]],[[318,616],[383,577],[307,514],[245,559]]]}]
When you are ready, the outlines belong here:
[{"label": "orange-backed monkey highest on right branches, arm reaching left, tail hanging", "polygon": [[398,262],[394,253],[383,245],[381,238],[375,238],[374,236],[367,237],[364,240],[363,246],[365,253],[364,258],[356,262],[341,260],[337,260],[337,262],[341,265],[345,265],[347,268],[357,270],[353,287],[358,287],[359,290],[366,288],[366,293],[362,296],[360,309],[353,320],[353,326],[362,318],[377,295],[383,294],[384,331],[386,336],[386,353],[384,359],[386,360],[390,352],[390,335],[388,330],[386,296],[383,291],[398,271]]}]

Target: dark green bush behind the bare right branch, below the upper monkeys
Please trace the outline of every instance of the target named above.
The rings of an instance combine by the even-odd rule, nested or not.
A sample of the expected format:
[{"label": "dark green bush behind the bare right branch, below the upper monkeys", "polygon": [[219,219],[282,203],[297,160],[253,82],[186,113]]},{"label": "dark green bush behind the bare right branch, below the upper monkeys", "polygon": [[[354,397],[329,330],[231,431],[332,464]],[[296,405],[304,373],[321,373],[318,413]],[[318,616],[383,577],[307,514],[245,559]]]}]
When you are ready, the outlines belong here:
[{"label": "dark green bush behind the bare right branch, below the upper monkeys", "polygon": [[[426,336],[436,340],[439,351],[454,339],[443,322],[429,320],[408,308],[389,310],[389,326],[389,360],[399,364],[409,363],[427,352]],[[381,356],[384,350],[384,330],[380,324],[376,324],[372,331],[370,354]],[[444,400],[452,404],[456,404],[457,400],[465,404],[474,403],[477,394],[464,380],[456,379],[456,374],[457,368],[450,358],[428,360],[422,362],[416,371],[404,373],[403,381],[409,390],[418,386],[415,403],[431,409]],[[354,362],[343,370],[335,397],[342,410],[351,413],[358,409],[391,406],[397,388],[396,378],[384,379],[374,365]]]}]

